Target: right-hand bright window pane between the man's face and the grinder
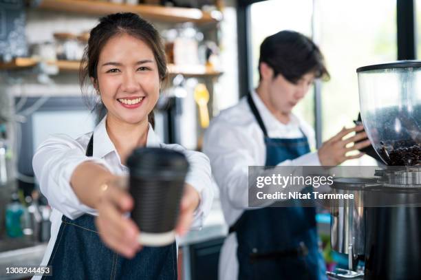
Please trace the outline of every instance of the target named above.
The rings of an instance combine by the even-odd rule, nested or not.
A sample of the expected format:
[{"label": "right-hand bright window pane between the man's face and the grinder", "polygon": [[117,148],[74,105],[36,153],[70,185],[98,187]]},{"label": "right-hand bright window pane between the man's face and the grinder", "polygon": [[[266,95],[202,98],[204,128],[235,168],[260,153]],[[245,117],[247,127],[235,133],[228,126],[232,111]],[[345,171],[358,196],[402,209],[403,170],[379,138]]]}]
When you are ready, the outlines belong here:
[{"label": "right-hand bright window pane between the man's face and the grinder", "polygon": [[396,60],[396,0],[318,0],[315,12],[318,43],[331,74],[321,94],[326,140],[358,116],[356,69]]}]

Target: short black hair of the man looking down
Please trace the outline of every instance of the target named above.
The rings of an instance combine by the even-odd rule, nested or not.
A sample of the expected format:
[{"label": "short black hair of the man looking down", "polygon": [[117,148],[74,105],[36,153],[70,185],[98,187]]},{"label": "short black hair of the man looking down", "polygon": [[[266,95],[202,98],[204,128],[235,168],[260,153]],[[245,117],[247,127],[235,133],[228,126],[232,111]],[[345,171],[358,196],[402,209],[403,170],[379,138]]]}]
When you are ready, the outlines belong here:
[{"label": "short black hair of the man looking down", "polygon": [[[262,62],[273,69],[274,78],[281,74],[291,83],[310,72],[316,78],[330,78],[319,47],[295,31],[284,30],[264,39],[260,45],[259,65]],[[261,79],[260,67],[259,75]]]}]

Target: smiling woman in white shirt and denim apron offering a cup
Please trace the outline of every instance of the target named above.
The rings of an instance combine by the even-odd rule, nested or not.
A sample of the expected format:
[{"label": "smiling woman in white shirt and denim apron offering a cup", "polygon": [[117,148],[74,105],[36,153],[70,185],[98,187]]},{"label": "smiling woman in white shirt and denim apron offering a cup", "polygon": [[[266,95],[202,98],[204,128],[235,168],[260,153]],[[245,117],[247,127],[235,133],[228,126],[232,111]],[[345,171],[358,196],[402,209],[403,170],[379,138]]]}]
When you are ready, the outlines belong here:
[{"label": "smiling woman in white shirt and denim apron offering a cup", "polygon": [[201,226],[210,211],[208,158],[160,143],[151,125],[166,76],[160,35],[138,15],[110,14],[91,30],[80,85],[88,99],[93,86],[91,109],[104,107],[107,114],[92,133],[76,140],[49,138],[33,160],[40,189],[54,208],[52,238],[41,264],[52,266],[56,279],[177,279],[175,242],[140,250],[142,228],[127,216],[134,202],[123,176],[136,147],[181,151],[191,168],[176,232],[186,233],[192,223]]}]

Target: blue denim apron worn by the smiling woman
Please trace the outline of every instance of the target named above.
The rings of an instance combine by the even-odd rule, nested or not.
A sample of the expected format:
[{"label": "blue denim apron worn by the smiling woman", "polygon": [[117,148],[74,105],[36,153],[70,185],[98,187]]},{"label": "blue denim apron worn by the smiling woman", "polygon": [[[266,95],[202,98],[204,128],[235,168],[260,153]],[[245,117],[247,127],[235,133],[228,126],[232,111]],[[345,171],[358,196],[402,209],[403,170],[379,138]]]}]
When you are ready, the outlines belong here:
[{"label": "blue denim apron worn by the smiling woman", "polygon": [[[86,155],[92,156],[94,136]],[[52,277],[43,279],[177,279],[177,248],[144,246],[133,259],[126,259],[107,248],[101,241],[93,215],[77,219],[65,215],[58,230],[48,266]]]}]

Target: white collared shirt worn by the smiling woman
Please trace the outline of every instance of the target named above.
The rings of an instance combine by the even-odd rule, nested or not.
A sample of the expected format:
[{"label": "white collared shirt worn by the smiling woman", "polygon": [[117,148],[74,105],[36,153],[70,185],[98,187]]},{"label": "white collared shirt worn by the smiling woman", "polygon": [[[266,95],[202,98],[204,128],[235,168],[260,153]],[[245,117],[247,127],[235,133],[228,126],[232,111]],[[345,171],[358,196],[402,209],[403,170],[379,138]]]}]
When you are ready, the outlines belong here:
[{"label": "white collared shirt worn by the smiling woman", "polygon": [[[127,166],[121,164],[120,156],[108,136],[105,127],[106,118],[103,118],[93,131],[94,150],[92,157],[85,155],[92,132],[86,133],[76,140],[63,134],[50,136],[40,145],[34,155],[32,166],[39,181],[41,193],[47,197],[48,203],[52,206],[52,215],[50,217],[52,222],[51,238],[41,263],[42,266],[47,265],[50,259],[58,230],[61,226],[62,215],[66,215],[70,219],[76,219],[85,213],[97,215],[94,208],[90,208],[78,200],[72,186],[69,184],[76,166],[82,162],[90,161],[102,164],[115,175],[129,174]],[[195,211],[191,229],[201,228],[204,218],[210,211],[214,195],[208,158],[204,153],[189,151],[178,144],[164,144],[160,142],[151,125],[149,125],[147,147],[173,149],[186,155],[190,164],[186,183],[191,184],[201,197],[201,202]]]}]

